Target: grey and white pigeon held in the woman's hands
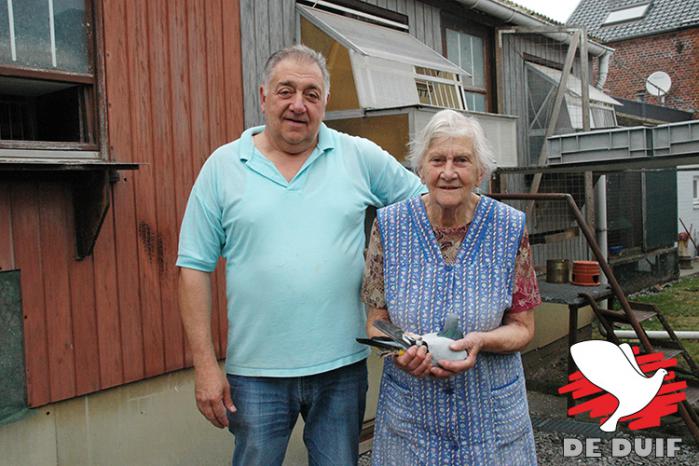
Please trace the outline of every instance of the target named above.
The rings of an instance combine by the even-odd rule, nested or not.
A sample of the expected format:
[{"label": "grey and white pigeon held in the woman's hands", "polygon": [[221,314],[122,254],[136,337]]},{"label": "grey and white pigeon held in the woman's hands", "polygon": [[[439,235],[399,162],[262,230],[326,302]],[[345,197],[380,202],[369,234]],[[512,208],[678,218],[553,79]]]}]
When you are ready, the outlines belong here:
[{"label": "grey and white pigeon held in the woman's hands", "polygon": [[381,330],[386,337],[357,338],[359,343],[375,346],[382,350],[382,355],[402,354],[411,346],[425,346],[432,356],[432,364],[439,365],[439,361],[460,361],[468,357],[464,350],[453,351],[449,346],[454,341],[464,337],[459,330],[459,317],[456,314],[447,315],[444,328],[440,332],[415,335],[405,332],[397,325],[386,320],[377,320],[374,327]]}]

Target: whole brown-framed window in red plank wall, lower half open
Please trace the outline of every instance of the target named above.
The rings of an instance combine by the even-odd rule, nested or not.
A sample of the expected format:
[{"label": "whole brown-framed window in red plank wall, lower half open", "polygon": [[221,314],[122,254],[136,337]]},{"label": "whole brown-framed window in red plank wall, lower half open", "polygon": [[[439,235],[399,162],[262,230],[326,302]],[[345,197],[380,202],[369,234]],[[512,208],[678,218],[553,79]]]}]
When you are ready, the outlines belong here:
[{"label": "whole brown-framed window in red plank wall, lower half open", "polygon": [[0,2],[0,157],[98,158],[91,0]]}]

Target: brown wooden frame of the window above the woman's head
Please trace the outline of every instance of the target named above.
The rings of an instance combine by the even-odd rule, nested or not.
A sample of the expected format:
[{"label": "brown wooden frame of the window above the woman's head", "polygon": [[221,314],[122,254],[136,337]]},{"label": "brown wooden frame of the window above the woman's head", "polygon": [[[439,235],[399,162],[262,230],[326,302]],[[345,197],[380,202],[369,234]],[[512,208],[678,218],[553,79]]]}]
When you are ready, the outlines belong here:
[{"label": "brown wooden frame of the window above the woman's head", "polygon": [[475,37],[479,37],[483,41],[483,84],[484,87],[472,87],[468,86],[465,82],[462,82],[464,92],[481,94],[485,97],[485,111],[493,112],[495,109],[495,86],[493,84],[494,70],[493,63],[494,49],[493,49],[493,31],[483,24],[474,23],[472,21],[456,18],[452,15],[442,16],[442,50],[443,55],[448,57],[447,50],[447,29],[456,31],[462,34],[469,34]]}]

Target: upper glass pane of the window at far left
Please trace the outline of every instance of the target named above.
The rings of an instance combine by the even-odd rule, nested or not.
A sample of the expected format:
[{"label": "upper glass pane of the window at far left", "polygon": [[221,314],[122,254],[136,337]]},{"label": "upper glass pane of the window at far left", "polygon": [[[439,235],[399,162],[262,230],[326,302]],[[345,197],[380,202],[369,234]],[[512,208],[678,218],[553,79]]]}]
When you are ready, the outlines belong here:
[{"label": "upper glass pane of the window at far left", "polygon": [[[87,54],[85,0],[11,0],[12,15],[8,15],[8,2],[2,3],[0,43],[3,45],[0,46],[0,63],[47,70],[91,71]],[[50,15],[51,7],[53,17]],[[9,49],[10,24],[14,27],[15,60],[12,60]]]}]

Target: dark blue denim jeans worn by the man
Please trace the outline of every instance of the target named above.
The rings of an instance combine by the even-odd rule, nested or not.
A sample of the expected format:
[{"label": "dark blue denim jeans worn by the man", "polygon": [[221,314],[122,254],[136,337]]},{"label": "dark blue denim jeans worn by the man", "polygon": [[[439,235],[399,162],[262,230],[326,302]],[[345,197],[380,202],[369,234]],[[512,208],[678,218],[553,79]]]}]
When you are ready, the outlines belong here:
[{"label": "dark blue denim jeans worn by the man", "polygon": [[238,411],[233,466],[281,465],[299,413],[308,464],[356,465],[367,391],[366,361],[305,377],[228,375]]}]

